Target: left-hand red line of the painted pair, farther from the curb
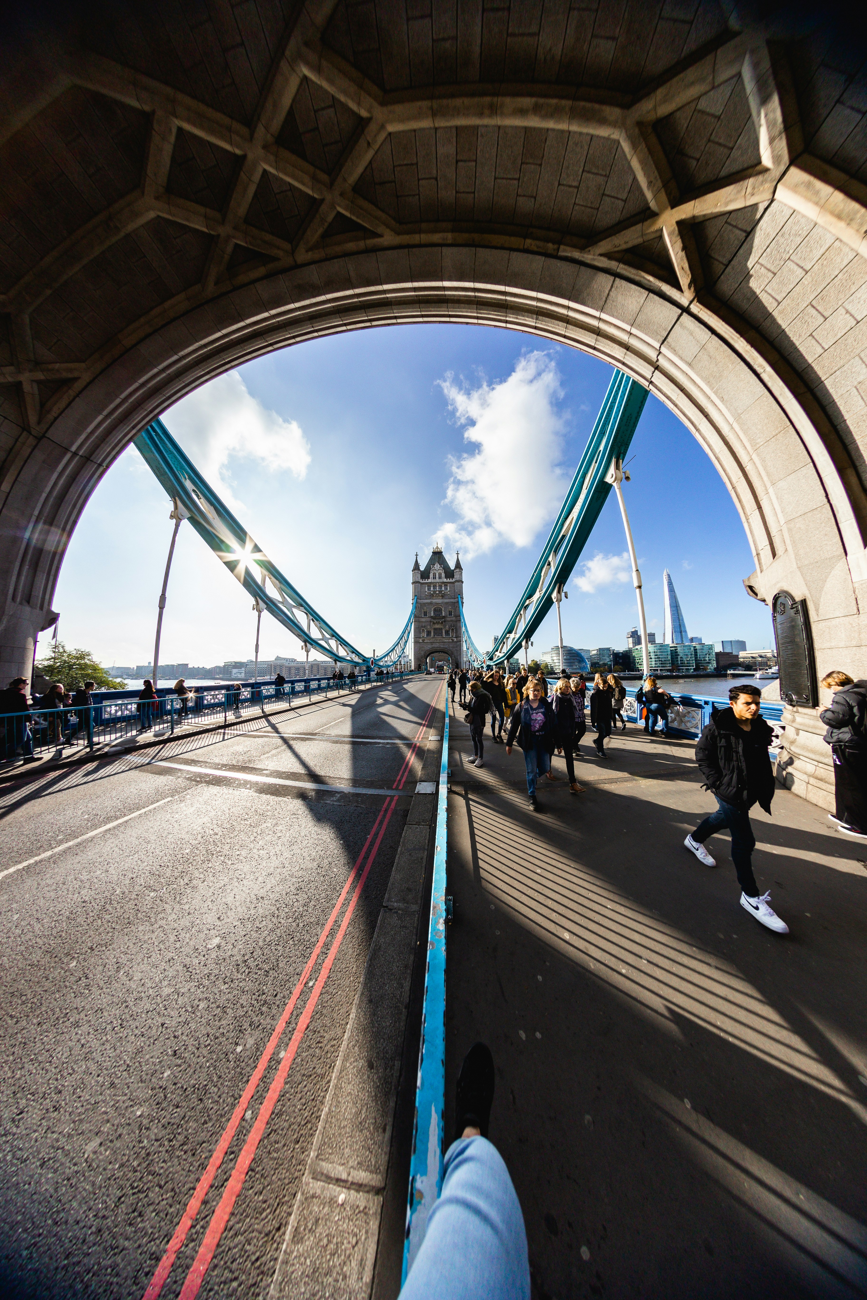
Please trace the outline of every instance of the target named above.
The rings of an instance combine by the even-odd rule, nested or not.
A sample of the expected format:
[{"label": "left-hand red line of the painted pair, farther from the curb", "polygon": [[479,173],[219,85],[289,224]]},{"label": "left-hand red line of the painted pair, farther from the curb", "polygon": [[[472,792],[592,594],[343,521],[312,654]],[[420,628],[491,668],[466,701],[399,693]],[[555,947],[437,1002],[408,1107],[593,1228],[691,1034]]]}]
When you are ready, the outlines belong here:
[{"label": "left-hand red line of the painted pair, farther from the curb", "polygon": [[[415,758],[416,751],[419,749],[419,741],[421,738],[421,733],[424,732],[425,727],[428,725],[428,720],[429,720],[430,715],[433,714],[433,711],[434,711],[434,708],[437,706],[437,701],[439,699],[439,692],[441,690],[442,690],[442,685],[441,685],[439,690],[437,690],[437,694],[435,694],[435,697],[433,699],[433,703],[430,705],[430,708],[428,710],[424,722],[421,723],[419,731],[416,732],[416,738],[415,738],[412,746],[409,748],[409,751],[408,751],[406,759],[403,760],[400,771],[398,772],[398,775],[396,775],[396,777],[394,780],[394,785],[391,786],[393,789],[403,789],[403,785],[404,785],[404,783],[407,780],[407,776],[409,774],[409,768],[412,766],[412,759]],[[224,1157],[225,1157],[229,1147],[231,1145],[231,1140],[233,1140],[233,1138],[234,1138],[234,1135],[235,1135],[235,1132],[238,1130],[238,1124],[240,1123],[242,1117],[244,1115],[244,1113],[247,1110],[247,1106],[248,1106],[248,1104],[250,1104],[250,1101],[251,1101],[251,1098],[252,1098],[256,1088],[261,1083],[263,1074],[265,1072],[268,1062],[270,1061],[272,1056],[274,1054],[274,1049],[277,1048],[277,1044],[279,1043],[279,1039],[281,1039],[281,1036],[283,1034],[283,1030],[286,1028],[289,1020],[291,1019],[291,1015],[292,1015],[292,1011],[295,1010],[295,1005],[298,1002],[298,998],[300,997],[302,989],[304,988],[304,984],[307,983],[307,978],[311,974],[313,966],[316,965],[316,961],[317,961],[317,958],[318,958],[318,956],[320,956],[320,953],[321,953],[321,950],[322,950],[322,948],[325,945],[325,940],[328,939],[328,936],[329,936],[329,933],[331,931],[331,927],[333,927],[333,924],[334,924],[334,922],[337,919],[337,916],[339,915],[341,907],[343,906],[343,902],[344,902],[346,896],[347,896],[347,893],[350,890],[350,887],[351,887],[351,884],[352,884],[352,881],[354,881],[354,879],[356,876],[359,866],[360,866],[361,861],[364,859],[364,854],[368,852],[368,845],[370,844],[370,840],[376,835],[377,827],[380,824],[380,819],[382,818],[382,814],[385,812],[385,810],[389,807],[389,803],[391,803],[391,809],[389,809],[389,814],[386,816],[386,820],[385,820],[385,823],[382,826],[382,829],[380,831],[380,835],[377,837],[376,845],[374,845],[374,848],[372,850],[370,858],[369,858],[368,864],[367,864],[367,867],[364,870],[364,875],[361,878],[361,881],[360,881],[360,884],[359,884],[359,887],[357,887],[357,889],[355,892],[355,896],[352,898],[352,902],[350,904],[350,907],[347,909],[347,914],[346,914],[346,918],[343,920],[343,926],[341,927],[341,931],[338,932],[338,937],[342,941],[342,935],[344,932],[346,922],[347,922],[348,916],[351,916],[352,910],[355,909],[355,904],[356,904],[357,896],[359,896],[359,893],[361,890],[361,885],[364,884],[364,880],[367,879],[367,874],[370,870],[370,866],[373,863],[373,858],[377,854],[377,850],[378,850],[380,844],[382,841],[382,836],[385,835],[385,828],[389,824],[389,820],[391,818],[391,812],[394,811],[395,802],[396,801],[394,798],[386,800],[385,803],[382,805],[382,807],[380,809],[377,819],[373,823],[370,833],[368,835],[367,840],[364,841],[364,848],[361,849],[361,853],[359,854],[359,857],[356,859],[356,863],[352,867],[352,871],[350,872],[350,876],[348,876],[346,884],[343,885],[343,889],[341,890],[341,896],[339,896],[339,898],[337,900],[337,902],[334,905],[331,915],[329,916],[329,919],[328,919],[328,922],[325,924],[325,928],[322,930],[322,933],[320,935],[318,940],[316,941],[316,946],[313,948],[313,952],[311,953],[311,957],[309,957],[309,959],[307,962],[307,966],[304,967],[304,970],[303,970],[303,972],[302,972],[302,975],[300,975],[300,978],[298,980],[298,984],[292,989],[292,996],[290,997],[290,1000],[286,1004],[286,1008],[283,1010],[283,1014],[281,1015],[279,1020],[277,1022],[277,1027],[274,1028],[274,1032],[272,1034],[272,1036],[270,1036],[270,1039],[268,1041],[268,1045],[266,1045],[265,1050],[263,1052],[263,1054],[261,1054],[261,1057],[259,1060],[259,1065],[253,1070],[253,1072],[252,1072],[252,1075],[250,1078],[250,1082],[248,1082],[247,1087],[244,1088],[244,1091],[242,1093],[240,1101],[235,1106],[235,1110],[234,1110],[234,1114],[233,1114],[231,1119],[226,1124],[226,1128],[225,1128],[225,1131],[224,1131],[220,1141],[217,1143],[217,1148],[216,1148],[213,1156],[208,1161],[208,1167],[205,1169],[204,1174],[199,1179],[196,1190],[192,1193],[192,1196],[190,1199],[190,1202],[188,1202],[186,1210],[183,1212],[183,1214],[181,1217],[181,1222],[178,1223],[177,1228],[174,1230],[172,1240],[169,1242],[169,1244],[168,1244],[166,1249],[165,1249],[165,1254],[160,1260],[160,1264],[159,1264],[159,1266],[156,1269],[156,1273],[151,1278],[148,1288],[144,1292],[143,1300],[157,1300],[157,1296],[160,1295],[162,1287],[165,1286],[165,1280],[169,1277],[169,1273],[172,1271],[172,1266],[173,1266],[173,1264],[174,1264],[174,1261],[177,1258],[178,1251],[183,1245],[183,1243],[185,1243],[185,1240],[187,1238],[187,1234],[188,1234],[190,1228],[192,1227],[192,1222],[194,1222],[196,1214],[201,1209],[201,1204],[203,1204],[205,1196],[208,1195],[208,1191],[211,1190],[211,1184],[213,1183],[213,1179],[214,1179],[214,1176],[217,1174],[217,1170],[220,1169],[220,1165],[222,1164]],[[339,948],[339,942],[337,940],[335,940],[335,944],[337,944],[337,948]],[[334,957],[337,957],[337,948],[333,946],[331,952],[329,953],[329,957],[326,958],[326,963],[325,965],[328,966],[329,971],[331,968]],[[325,967],[322,967],[322,968],[325,970]],[[316,1005],[316,1000],[318,998],[317,989],[318,989],[318,984],[315,985],[315,988],[313,988],[313,993],[311,994],[311,998],[308,1000],[308,1004],[304,1008],[304,1011],[302,1014],[302,1019],[307,1015],[307,1008],[311,1009],[311,1015],[312,1015],[313,1006]],[[311,1002],[313,1004],[312,1006],[311,1006]],[[309,1020],[309,1018],[308,1018],[308,1020]],[[295,1032],[298,1032],[298,1030]],[[295,1041],[295,1039],[292,1037],[292,1043],[294,1041]],[[300,1039],[299,1039],[299,1041],[300,1041]],[[291,1048],[291,1043],[290,1043],[290,1048]],[[283,1062],[286,1062],[286,1060],[289,1060],[289,1065],[291,1065],[291,1061],[294,1060],[295,1050],[296,1050],[296,1048],[295,1048],[295,1050],[292,1052],[292,1057],[290,1058],[289,1057],[290,1048],[286,1049],[286,1056],[283,1057]],[[286,1074],[289,1072],[289,1065],[286,1066]],[[282,1088],[282,1083],[281,1083],[281,1088]],[[270,1093],[269,1093],[269,1096],[270,1096]],[[273,1106],[272,1106],[272,1109],[273,1109]],[[260,1114],[261,1114],[261,1112],[260,1112]],[[270,1114],[270,1112],[269,1112],[269,1114]],[[263,1124],[263,1130],[264,1130],[264,1124]],[[252,1134],[251,1134],[251,1136],[252,1136]],[[256,1143],[256,1145],[257,1144],[259,1143]],[[253,1148],[253,1152],[255,1152],[255,1148]],[[252,1154],[251,1154],[250,1158],[252,1160]],[[246,1170],[244,1170],[244,1174],[246,1174]],[[243,1186],[243,1176],[240,1179],[240,1184]],[[239,1186],[238,1191],[240,1191],[240,1186]],[[234,1205],[234,1200],[235,1199],[237,1199],[237,1193],[235,1193],[235,1197],[233,1197],[233,1202],[231,1202],[233,1205]],[[231,1208],[230,1208],[229,1213],[231,1213]],[[227,1218],[227,1216],[226,1216],[226,1218]],[[213,1222],[213,1219],[212,1219],[212,1222]],[[222,1227],[220,1228],[220,1234],[222,1234]],[[218,1240],[220,1240],[220,1236],[217,1236],[217,1242]],[[217,1242],[214,1242],[214,1249],[216,1249]],[[199,1252],[199,1253],[201,1253],[201,1252]],[[211,1254],[213,1254],[213,1251],[211,1252]],[[198,1257],[196,1257],[196,1261],[198,1261]],[[208,1257],[208,1264],[209,1262],[211,1262],[211,1256]],[[207,1266],[208,1265],[205,1264],[205,1268],[201,1271],[201,1278],[204,1278],[204,1271],[207,1270]],[[195,1268],[195,1265],[194,1265],[194,1268]],[[199,1279],[199,1283],[196,1284],[196,1291],[199,1290],[199,1286],[201,1284],[201,1278]],[[185,1283],[185,1288],[186,1288],[186,1283]],[[195,1295],[195,1292],[192,1292],[192,1294]]]}]

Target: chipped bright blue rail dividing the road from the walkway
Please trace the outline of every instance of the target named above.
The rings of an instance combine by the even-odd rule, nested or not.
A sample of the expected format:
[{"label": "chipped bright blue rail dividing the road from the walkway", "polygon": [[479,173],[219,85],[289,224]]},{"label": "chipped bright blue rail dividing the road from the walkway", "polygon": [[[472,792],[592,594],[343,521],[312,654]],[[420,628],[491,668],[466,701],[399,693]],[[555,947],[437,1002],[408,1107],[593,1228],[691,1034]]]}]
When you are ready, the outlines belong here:
[{"label": "chipped bright blue rail dividing the road from the walkway", "polygon": [[421,1014],[416,1115],[412,1127],[409,1196],[403,1247],[403,1275],[407,1280],[428,1225],[428,1216],[442,1191],[445,1104],[446,1104],[446,820],[448,815],[448,698],[442,732],[439,798],[437,802],[437,842],[430,888],[428,926],[428,965],[425,1000]]}]

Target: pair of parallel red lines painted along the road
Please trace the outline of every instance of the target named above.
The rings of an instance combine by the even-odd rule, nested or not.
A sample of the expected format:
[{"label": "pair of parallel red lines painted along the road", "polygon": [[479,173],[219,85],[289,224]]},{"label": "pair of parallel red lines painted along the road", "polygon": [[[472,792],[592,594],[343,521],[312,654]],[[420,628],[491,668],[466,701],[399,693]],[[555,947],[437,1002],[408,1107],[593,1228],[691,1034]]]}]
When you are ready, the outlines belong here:
[{"label": "pair of parallel red lines painted along the road", "polygon": [[[416,757],[416,751],[419,749],[419,742],[421,741],[421,734],[425,731],[425,728],[426,728],[426,725],[428,725],[428,723],[430,720],[430,715],[433,714],[434,708],[437,707],[437,701],[438,699],[439,699],[439,690],[437,692],[437,694],[434,697],[434,701],[430,705],[430,708],[428,710],[425,720],[422,722],[421,727],[419,728],[419,731],[416,733],[416,737],[415,737],[415,740],[413,740],[413,742],[412,742],[412,745],[409,748],[409,751],[408,751],[406,759],[403,760],[403,766],[400,767],[400,771],[398,772],[398,776],[395,777],[394,785],[391,786],[395,790],[402,790],[403,786],[404,786],[404,783],[406,783],[407,776],[409,775],[409,771],[411,771],[411,767],[412,767],[412,760]],[[263,1139],[263,1135],[265,1132],[265,1126],[266,1126],[268,1121],[270,1119],[270,1115],[272,1115],[272,1113],[274,1110],[274,1106],[277,1105],[277,1098],[279,1097],[279,1093],[281,1093],[281,1091],[283,1088],[283,1084],[286,1083],[286,1078],[287,1078],[289,1071],[291,1069],[292,1061],[295,1060],[295,1056],[298,1054],[298,1049],[300,1046],[302,1039],[304,1037],[304,1032],[305,1032],[308,1024],[311,1023],[311,1018],[312,1018],[313,1011],[316,1009],[316,1004],[318,1001],[320,993],[322,992],[322,988],[325,987],[325,982],[328,980],[328,978],[329,978],[329,975],[331,972],[331,967],[333,967],[334,961],[337,958],[337,954],[339,952],[341,944],[343,942],[343,936],[346,935],[346,931],[347,931],[347,927],[350,924],[350,920],[352,919],[352,913],[355,911],[355,905],[359,901],[359,897],[360,897],[361,890],[364,888],[364,881],[367,880],[368,874],[370,871],[370,867],[373,866],[373,862],[374,862],[376,855],[378,853],[380,845],[382,844],[382,837],[383,837],[383,835],[386,832],[389,822],[391,820],[391,814],[394,812],[396,803],[398,803],[396,796],[390,794],[386,798],[386,801],[382,805],[382,807],[380,809],[380,812],[377,815],[376,822],[373,823],[370,833],[368,835],[367,840],[364,841],[364,848],[361,849],[361,852],[360,852],[360,854],[359,854],[359,857],[356,859],[356,863],[352,867],[352,871],[350,872],[350,878],[346,881],[346,884],[343,885],[343,889],[341,890],[341,894],[339,894],[337,902],[334,904],[334,909],[331,910],[331,915],[329,916],[328,922],[325,923],[322,933],[316,940],[316,945],[313,946],[313,952],[311,953],[311,956],[308,958],[308,962],[307,962],[304,970],[302,971],[302,975],[300,975],[300,978],[298,980],[298,984],[292,989],[292,996],[290,997],[289,1002],[286,1004],[283,1014],[281,1015],[279,1020],[277,1022],[277,1026],[274,1027],[274,1032],[272,1034],[270,1039],[268,1040],[268,1046],[263,1052],[261,1057],[259,1058],[259,1063],[257,1063],[256,1069],[253,1070],[252,1075],[250,1076],[250,1083],[244,1088],[244,1091],[243,1091],[243,1093],[240,1096],[240,1100],[239,1100],[238,1105],[235,1106],[235,1109],[233,1112],[231,1119],[226,1124],[226,1127],[224,1130],[224,1134],[222,1134],[220,1141],[217,1143],[217,1147],[214,1149],[213,1156],[208,1161],[208,1167],[205,1169],[204,1174],[199,1179],[199,1184],[198,1184],[195,1192],[192,1193],[192,1196],[190,1197],[190,1204],[187,1205],[186,1210],[181,1216],[181,1222],[178,1223],[177,1228],[174,1230],[172,1240],[169,1242],[169,1244],[168,1244],[166,1249],[165,1249],[165,1254],[160,1260],[160,1264],[157,1266],[156,1273],[151,1278],[151,1282],[149,1282],[149,1284],[147,1287],[147,1291],[144,1292],[143,1300],[156,1300],[156,1297],[160,1295],[160,1292],[161,1292],[161,1290],[162,1290],[162,1287],[165,1284],[165,1280],[169,1277],[169,1273],[172,1271],[172,1266],[173,1266],[173,1264],[174,1264],[174,1261],[177,1258],[178,1251],[183,1245],[183,1243],[185,1243],[185,1240],[187,1238],[187,1234],[188,1234],[190,1228],[192,1227],[192,1222],[194,1222],[196,1214],[201,1209],[201,1204],[203,1204],[205,1196],[208,1195],[208,1192],[211,1190],[211,1184],[213,1183],[213,1179],[214,1179],[214,1176],[217,1174],[217,1170],[220,1169],[220,1166],[222,1164],[222,1160],[224,1160],[226,1152],[229,1150],[229,1147],[231,1145],[231,1140],[235,1136],[235,1132],[238,1131],[238,1126],[239,1126],[239,1123],[240,1123],[244,1113],[247,1112],[247,1106],[252,1101],[253,1093],[256,1092],[256,1088],[259,1087],[259,1084],[260,1084],[260,1082],[263,1079],[263,1075],[265,1074],[265,1070],[268,1067],[268,1062],[270,1061],[272,1056],[274,1054],[274,1050],[277,1049],[277,1044],[279,1043],[279,1040],[282,1037],[283,1030],[286,1028],[286,1026],[289,1024],[289,1022],[290,1022],[290,1019],[292,1017],[292,1011],[295,1010],[298,1000],[302,996],[304,985],[307,984],[307,980],[308,980],[311,972],[313,971],[313,968],[316,966],[316,962],[318,961],[320,953],[322,952],[322,948],[325,946],[325,941],[326,941],[328,936],[331,932],[334,922],[339,916],[341,909],[343,907],[346,897],[350,893],[350,889],[352,889],[352,884],[354,884],[354,881],[357,878],[357,884],[355,885],[355,890],[352,892],[352,897],[350,900],[350,905],[346,909],[346,913],[343,915],[343,920],[341,922],[341,926],[339,926],[339,928],[337,931],[337,935],[334,936],[334,940],[331,941],[331,946],[330,946],[330,949],[328,952],[328,956],[326,956],[326,958],[325,958],[325,961],[322,963],[322,968],[321,968],[321,971],[318,974],[318,978],[317,978],[317,980],[316,980],[316,983],[313,985],[313,991],[311,992],[311,996],[307,1000],[304,1010],[302,1011],[302,1014],[299,1017],[298,1024],[295,1026],[295,1031],[294,1031],[294,1034],[292,1034],[292,1036],[291,1036],[291,1039],[289,1041],[289,1046],[286,1048],[286,1052],[285,1052],[283,1058],[281,1061],[279,1069],[278,1069],[277,1074],[274,1075],[274,1080],[273,1080],[270,1088],[268,1089],[268,1095],[266,1095],[265,1100],[263,1101],[263,1104],[261,1104],[261,1106],[259,1109],[259,1114],[256,1115],[256,1121],[255,1121],[255,1123],[253,1123],[253,1126],[252,1126],[252,1128],[251,1128],[251,1131],[250,1131],[250,1134],[247,1136],[247,1141],[244,1143],[243,1149],[242,1149],[242,1152],[240,1152],[240,1154],[239,1154],[239,1157],[238,1157],[238,1160],[235,1162],[235,1167],[231,1171],[231,1175],[230,1175],[229,1182],[226,1184],[226,1188],[225,1188],[225,1191],[222,1193],[220,1204],[217,1205],[216,1210],[213,1212],[213,1216],[212,1216],[211,1222],[208,1225],[208,1230],[207,1230],[207,1232],[204,1235],[204,1240],[203,1240],[201,1245],[199,1247],[199,1253],[196,1254],[196,1257],[194,1260],[192,1268],[187,1273],[186,1282],[183,1283],[183,1288],[181,1291],[181,1300],[194,1300],[194,1296],[196,1296],[199,1294],[199,1287],[201,1286],[201,1283],[204,1280],[204,1275],[208,1271],[208,1265],[211,1264],[211,1261],[213,1258],[214,1251],[217,1249],[217,1245],[220,1244],[220,1238],[224,1234],[226,1223],[229,1222],[229,1217],[230,1217],[230,1214],[231,1214],[231,1212],[234,1209],[235,1201],[238,1200],[238,1196],[240,1195],[240,1190],[244,1186],[244,1178],[247,1176],[247,1170],[250,1169],[250,1166],[252,1164],[252,1160],[253,1160],[253,1156],[256,1154],[256,1148],[259,1147],[259,1143]],[[370,850],[369,855],[368,855],[368,849]],[[359,876],[359,871],[361,868],[361,863],[364,862],[365,855],[368,855],[367,857],[367,866],[364,867],[364,870],[361,871],[361,874]]]}]

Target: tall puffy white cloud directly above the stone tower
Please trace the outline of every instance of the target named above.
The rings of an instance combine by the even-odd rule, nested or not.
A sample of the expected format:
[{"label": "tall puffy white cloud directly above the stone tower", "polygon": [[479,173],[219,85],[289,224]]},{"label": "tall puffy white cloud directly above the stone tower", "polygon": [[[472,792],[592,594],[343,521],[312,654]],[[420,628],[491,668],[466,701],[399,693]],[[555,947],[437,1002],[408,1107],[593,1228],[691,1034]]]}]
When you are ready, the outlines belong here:
[{"label": "tall puffy white cloud directly above the stone tower", "polygon": [[450,458],[446,504],[455,519],[437,537],[465,558],[499,542],[529,546],[556,512],[564,485],[558,469],[563,417],[560,376],[546,352],[529,352],[499,384],[474,387],[439,381],[464,441],[477,450]]}]

